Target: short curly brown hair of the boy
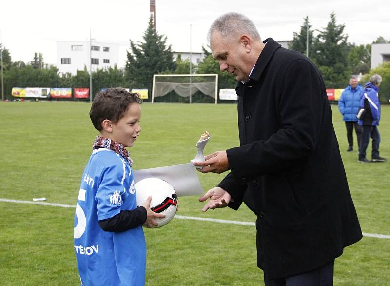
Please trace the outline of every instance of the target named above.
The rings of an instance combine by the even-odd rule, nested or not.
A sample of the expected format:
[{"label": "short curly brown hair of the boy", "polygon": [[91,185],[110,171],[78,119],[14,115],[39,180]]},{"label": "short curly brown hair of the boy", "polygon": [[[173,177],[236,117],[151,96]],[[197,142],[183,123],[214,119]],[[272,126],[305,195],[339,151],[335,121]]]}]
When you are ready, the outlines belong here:
[{"label": "short curly brown hair of the boy", "polygon": [[126,113],[130,103],[141,104],[142,100],[137,93],[128,92],[124,88],[108,88],[95,96],[89,117],[94,127],[101,131],[103,120],[117,123]]}]

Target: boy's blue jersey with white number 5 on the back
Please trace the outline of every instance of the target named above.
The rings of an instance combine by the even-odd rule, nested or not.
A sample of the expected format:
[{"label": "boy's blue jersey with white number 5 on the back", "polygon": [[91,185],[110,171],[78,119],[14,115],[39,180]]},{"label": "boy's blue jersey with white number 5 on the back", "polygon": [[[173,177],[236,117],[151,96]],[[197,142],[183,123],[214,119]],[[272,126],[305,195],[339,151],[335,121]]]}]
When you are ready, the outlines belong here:
[{"label": "boy's blue jersey with white number 5 on the back", "polygon": [[112,150],[94,150],[81,178],[75,215],[75,253],[81,285],[144,285],[142,226],[105,232],[99,220],[137,208],[129,163]]}]

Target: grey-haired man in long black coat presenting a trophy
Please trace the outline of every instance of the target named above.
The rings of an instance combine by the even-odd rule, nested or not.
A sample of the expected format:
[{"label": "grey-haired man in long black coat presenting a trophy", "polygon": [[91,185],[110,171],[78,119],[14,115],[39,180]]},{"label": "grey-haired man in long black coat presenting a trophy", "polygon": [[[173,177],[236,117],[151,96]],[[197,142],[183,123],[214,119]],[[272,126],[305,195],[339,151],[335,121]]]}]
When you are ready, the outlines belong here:
[{"label": "grey-haired man in long black coat presenting a trophy", "polygon": [[332,285],[334,259],[362,238],[324,81],[299,52],[262,42],[246,16],[220,16],[213,57],[237,81],[240,146],[194,163],[231,172],[199,198],[203,211],[242,202],[257,215],[266,286]]}]

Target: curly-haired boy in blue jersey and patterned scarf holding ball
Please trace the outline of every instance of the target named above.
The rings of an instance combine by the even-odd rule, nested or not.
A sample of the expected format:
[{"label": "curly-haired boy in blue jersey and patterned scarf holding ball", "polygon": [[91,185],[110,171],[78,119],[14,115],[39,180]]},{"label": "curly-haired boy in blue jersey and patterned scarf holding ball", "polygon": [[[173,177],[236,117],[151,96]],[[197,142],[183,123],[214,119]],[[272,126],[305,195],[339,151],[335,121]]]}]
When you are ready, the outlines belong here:
[{"label": "curly-haired boy in blue jersey and patterned scarf holding ball", "polygon": [[132,147],[141,126],[142,100],[110,88],[98,93],[89,113],[100,132],[81,178],[75,216],[75,252],[81,285],[144,285],[146,244],[141,225],[163,218],[137,207]]}]

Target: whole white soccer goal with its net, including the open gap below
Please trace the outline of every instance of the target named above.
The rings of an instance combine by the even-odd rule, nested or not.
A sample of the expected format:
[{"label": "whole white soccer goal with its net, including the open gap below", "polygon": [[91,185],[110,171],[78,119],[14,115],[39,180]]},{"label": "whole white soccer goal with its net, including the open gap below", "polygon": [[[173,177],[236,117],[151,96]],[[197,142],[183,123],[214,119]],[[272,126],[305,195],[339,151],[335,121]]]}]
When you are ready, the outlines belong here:
[{"label": "whole white soccer goal with its net, including the open gap below", "polygon": [[218,74],[153,75],[153,102],[217,103]]}]

